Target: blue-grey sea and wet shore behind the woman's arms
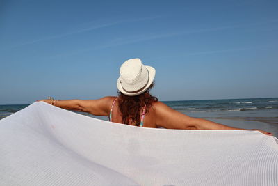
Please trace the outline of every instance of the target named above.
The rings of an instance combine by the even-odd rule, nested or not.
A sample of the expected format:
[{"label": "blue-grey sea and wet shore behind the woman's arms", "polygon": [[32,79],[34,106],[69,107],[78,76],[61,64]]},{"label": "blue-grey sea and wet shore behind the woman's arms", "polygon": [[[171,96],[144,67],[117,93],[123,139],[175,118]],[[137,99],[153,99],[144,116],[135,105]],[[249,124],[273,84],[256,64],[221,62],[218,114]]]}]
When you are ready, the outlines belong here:
[{"label": "blue-grey sea and wet shore behind the woman's arms", "polygon": [[[229,100],[165,101],[172,109],[196,118],[205,118],[232,127],[261,129],[278,137],[278,98],[248,98]],[[0,105],[0,119],[9,116],[28,104]],[[104,116],[85,116],[108,120]]]}]

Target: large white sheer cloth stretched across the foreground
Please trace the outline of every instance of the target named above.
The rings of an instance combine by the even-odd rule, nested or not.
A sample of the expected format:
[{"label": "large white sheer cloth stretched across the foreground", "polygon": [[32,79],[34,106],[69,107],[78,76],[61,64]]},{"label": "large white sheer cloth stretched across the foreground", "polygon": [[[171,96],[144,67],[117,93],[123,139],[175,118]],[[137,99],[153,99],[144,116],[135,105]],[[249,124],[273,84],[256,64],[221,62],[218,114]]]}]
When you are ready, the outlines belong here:
[{"label": "large white sheer cloth stretched across the foreground", "polygon": [[0,185],[278,185],[278,140],[167,130],[35,102],[0,121]]}]

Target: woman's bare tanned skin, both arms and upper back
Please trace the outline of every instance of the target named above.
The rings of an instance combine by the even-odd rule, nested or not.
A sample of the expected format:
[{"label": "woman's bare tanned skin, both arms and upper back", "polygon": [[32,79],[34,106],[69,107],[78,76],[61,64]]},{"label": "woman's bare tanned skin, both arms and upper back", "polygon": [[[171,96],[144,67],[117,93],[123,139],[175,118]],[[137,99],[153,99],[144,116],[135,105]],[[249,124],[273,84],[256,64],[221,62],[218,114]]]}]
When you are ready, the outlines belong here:
[{"label": "woman's bare tanned skin, both arms and upper back", "polygon": [[[95,116],[109,116],[113,101],[117,97],[108,96],[98,100],[56,100],[55,106],[63,109],[88,112]],[[40,100],[52,103],[52,100]],[[113,122],[122,123],[120,109],[117,101],[113,107]],[[229,127],[202,118],[193,118],[179,111],[171,109],[163,102],[154,102],[149,114],[144,118],[144,127],[164,127],[167,129],[181,130],[246,130],[242,128]],[[263,134],[272,136],[272,133],[257,130]]]}]

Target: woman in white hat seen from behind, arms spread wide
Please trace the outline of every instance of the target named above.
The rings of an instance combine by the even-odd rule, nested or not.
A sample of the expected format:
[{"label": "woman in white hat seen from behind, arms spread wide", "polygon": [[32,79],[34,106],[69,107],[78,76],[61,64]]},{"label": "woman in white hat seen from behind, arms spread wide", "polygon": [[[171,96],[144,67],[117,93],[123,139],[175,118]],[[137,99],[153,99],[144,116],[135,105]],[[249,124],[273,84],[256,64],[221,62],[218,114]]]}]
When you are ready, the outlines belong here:
[{"label": "woman in white hat seen from behind, arms spread wide", "polygon": [[[142,64],[140,59],[129,59],[120,68],[117,80],[118,97],[99,100],[42,100],[56,107],[108,116],[110,121],[140,127],[164,127],[183,130],[245,130],[229,127],[202,118],[181,114],[149,94],[154,86],[156,70]],[[255,129],[254,129],[255,130]],[[258,130],[267,135],[270,132]]]}]

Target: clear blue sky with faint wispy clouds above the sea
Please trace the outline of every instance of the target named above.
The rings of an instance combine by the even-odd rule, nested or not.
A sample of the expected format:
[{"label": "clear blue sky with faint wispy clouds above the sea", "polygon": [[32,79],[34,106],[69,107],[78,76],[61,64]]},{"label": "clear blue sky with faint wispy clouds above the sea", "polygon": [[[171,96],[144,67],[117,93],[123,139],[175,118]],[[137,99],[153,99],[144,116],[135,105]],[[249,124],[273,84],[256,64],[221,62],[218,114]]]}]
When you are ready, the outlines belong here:
[{"label": "clear blue sky with faint wispy clouds above the sea", "polygon": [[278,97],[278,1],[1,1],[0,104],[117,95],[156,68],[158,100]]}]

